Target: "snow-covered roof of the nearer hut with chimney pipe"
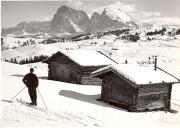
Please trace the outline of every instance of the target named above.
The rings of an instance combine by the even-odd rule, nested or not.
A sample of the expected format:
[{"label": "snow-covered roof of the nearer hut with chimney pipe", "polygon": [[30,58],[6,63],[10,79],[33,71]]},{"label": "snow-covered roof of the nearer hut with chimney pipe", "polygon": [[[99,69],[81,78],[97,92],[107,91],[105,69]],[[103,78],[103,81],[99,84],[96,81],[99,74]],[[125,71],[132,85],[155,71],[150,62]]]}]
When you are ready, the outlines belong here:
[{"label": "snow-covered roof of the nearer hut with chimney pipe", "polygon": [[106,66],[99,70],[96,70],[91,73],[92,77],[97,77],[107,72],[114,72],[119,76],[123,76],[129,81],[137,85],[145,84],[157,84],[157,83],[176,83],[179,82],[174,77],[168,75],[167,73],[159,70],[154,70],[154,67],[151,66],[140,66],[138,64],[116,64]]}]

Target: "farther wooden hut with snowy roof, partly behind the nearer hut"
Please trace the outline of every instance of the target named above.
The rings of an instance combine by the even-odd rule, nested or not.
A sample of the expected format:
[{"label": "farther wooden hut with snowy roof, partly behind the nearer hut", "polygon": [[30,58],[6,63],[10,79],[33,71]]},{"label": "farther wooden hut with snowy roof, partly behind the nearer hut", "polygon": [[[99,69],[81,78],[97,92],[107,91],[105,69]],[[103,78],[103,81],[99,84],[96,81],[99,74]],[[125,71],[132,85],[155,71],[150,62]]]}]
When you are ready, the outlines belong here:
[{"label": "farther wooden hut with snowy roof, partly behind the nearer hut", "polygon": [[90,50],[59,51],[44,61],[48,64],[48,79],[69,83],[101,85],[91,72],[115,62],[101,52]]}]

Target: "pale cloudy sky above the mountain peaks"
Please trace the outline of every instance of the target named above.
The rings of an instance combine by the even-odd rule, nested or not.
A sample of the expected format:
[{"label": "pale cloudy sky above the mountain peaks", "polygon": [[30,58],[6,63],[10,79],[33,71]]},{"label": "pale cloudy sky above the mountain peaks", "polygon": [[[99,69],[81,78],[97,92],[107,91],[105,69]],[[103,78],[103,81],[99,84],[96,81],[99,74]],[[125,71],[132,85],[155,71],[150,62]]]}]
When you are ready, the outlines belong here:
[{"label": "pale cloudy sky above the mountain peaks", "polygon": [[180,0],[1,1],[1,26],[8,28],[22,21],[51,20],[62,5],[84,10],[89,16],[95,11],[101,13],[110,6],[143,22],[159,20],[180,23]]}]

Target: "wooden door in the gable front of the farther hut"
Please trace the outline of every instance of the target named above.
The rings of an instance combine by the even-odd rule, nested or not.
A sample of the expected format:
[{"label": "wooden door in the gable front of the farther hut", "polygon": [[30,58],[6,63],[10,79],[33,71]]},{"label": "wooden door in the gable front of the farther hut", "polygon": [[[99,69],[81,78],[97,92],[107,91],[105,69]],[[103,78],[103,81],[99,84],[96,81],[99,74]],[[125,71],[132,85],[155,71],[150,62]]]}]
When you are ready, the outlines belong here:
[{"label": "wooden door in the gable front of the farther hut", "polygon": [[61,81],[69,82],[70,81],[70,65],[59,64],[58,77],[59,77],[59,80]]}]

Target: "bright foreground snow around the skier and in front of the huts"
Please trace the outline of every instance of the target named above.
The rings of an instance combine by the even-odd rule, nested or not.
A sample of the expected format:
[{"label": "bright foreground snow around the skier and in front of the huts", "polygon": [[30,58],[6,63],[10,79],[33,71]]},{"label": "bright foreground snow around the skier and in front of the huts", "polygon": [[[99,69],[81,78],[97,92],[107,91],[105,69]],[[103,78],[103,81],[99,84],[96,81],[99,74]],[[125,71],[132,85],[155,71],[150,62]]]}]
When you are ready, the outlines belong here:
[{"label": "bright foreground snow around the skier and in front of the huts", "polygon": [[[2,63],[2,98],[11,99],[24,85],[23,76],[28,66]],[[40,64],[38,64],[40,65]],[[139,127],[139,128],[179,128],[180,126],[180,86],[172,90],[172,109],[178,113],[147,112],[130,113],[104,102],[96,101],[100,96],[100,86],[85,86],[47,80],[47,71],[35,69],[39,77],[38,87],[48,107],[45,109],[38,93],[38,108],[20,103],[1,101],[0,126],[56,126],[56,127]],[[27,89],[17,97],[30,102]]]}]

